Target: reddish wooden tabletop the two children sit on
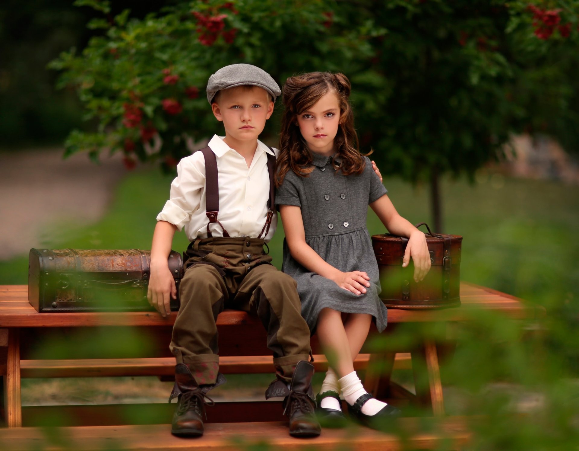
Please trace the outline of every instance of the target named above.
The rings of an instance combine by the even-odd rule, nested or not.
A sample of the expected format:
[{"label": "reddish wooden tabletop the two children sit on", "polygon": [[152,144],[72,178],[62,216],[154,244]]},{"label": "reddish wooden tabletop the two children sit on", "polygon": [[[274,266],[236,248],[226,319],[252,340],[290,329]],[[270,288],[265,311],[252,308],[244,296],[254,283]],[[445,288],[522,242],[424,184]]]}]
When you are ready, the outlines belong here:
[{"label": "reddish wooden tabletop the two children sit on", "polygon": [[[470,321],[480,309],[495,311],[511,318],[543,317],[543,307],[525,303],[509,294],[461,282],[462,305],[442,310],[397,310],[391,308],[389,323]],[[0,286],[0,328],[7,327],[78,327],[78,326],[171,326],[177,317],[173,312],[162,318],[156,312],[38,313],[28,304],[26,285]],[[245,312],[226,310],[219,314],[218,326],[260,324],[258,318]]]}]

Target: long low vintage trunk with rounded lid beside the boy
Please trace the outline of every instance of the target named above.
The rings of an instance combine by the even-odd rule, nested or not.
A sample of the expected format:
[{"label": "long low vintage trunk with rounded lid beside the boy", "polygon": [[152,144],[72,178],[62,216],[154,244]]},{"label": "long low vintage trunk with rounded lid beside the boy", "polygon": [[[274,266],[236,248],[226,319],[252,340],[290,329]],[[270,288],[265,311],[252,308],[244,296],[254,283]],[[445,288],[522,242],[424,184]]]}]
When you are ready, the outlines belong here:
[{"label": "long low vintage trunk with rounded lid beside the boy", "polygon": [[[39,312],[152,310],[146,299],[151,275],[151,251],[30,249],[28,301]],[[177,284],[183,277],[181,254],[168,257]]]}]

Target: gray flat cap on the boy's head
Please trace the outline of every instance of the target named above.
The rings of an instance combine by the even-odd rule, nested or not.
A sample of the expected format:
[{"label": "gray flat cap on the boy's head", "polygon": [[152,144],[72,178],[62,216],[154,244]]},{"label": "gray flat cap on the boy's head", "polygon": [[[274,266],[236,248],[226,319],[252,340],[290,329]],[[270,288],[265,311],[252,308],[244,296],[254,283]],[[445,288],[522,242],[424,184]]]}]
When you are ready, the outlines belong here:
[{"label": "gray flat cap on the boy's head", "polygon": [[281,94],[280,87],[276,81],[263,69],[251,64],[230,64],[219,69],[209,77],[207,82],[207,100],[209,103],[218,91],[235,86],[254,85],[265,89],[272,100]]}]

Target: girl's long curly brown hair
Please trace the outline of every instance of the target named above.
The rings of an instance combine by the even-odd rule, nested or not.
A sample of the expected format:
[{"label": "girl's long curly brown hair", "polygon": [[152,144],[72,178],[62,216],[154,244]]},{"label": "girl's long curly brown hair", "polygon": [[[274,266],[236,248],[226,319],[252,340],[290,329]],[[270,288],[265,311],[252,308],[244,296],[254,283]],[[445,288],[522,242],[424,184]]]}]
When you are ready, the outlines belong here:
[{"label": "girl's long curly brown hair", "polygon": [[340,126],[334,139],[334,149],[336,157],[340,157],[341,161],[339,165],[332,163],[345,175],[364,172],[365,160],[358,150],[358,135],[354,129],[354,115],[349,102],[350,90],[350,81],[346,75],[331,72],[309,72],[285,81],[282,90],[285,110],[281,118],[277,187],[281,186],[290,169],[302,177],[309,176],[314,169],[312,153],[299,131],[297,116],[311,108],[328,92],[336,94],[340,106]]}]

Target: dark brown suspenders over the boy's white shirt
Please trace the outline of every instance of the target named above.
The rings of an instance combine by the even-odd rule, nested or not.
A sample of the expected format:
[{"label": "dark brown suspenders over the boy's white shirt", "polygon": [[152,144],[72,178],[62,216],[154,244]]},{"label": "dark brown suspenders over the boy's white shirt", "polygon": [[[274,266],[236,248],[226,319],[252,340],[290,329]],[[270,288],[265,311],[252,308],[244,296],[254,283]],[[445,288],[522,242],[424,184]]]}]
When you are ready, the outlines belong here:
[{"label": "dark brown suspenders over the boy's white shirt", "polygon": [[[269,147],[269,146],[267,146]],[[273,149],[269,147],[270,150]],[[217,223],[223,230],[223,237],[229,238],[228,232],[223,227],[217,217],[219,214],[219,174],[217,172],[217,157],[211,150],[210,147],[204,147],[199,149],[203,154],[205,159],[205,202],[206,202],[206,214],[209,219],[207,223],[207,237],[212,238],[211,231],[209,230],[209,224]],[[273,205],[275,196],[275,187],[273,183],[273,176],[276,168],[276,157],[270,154],[267,155],[267,173],[269,174],[269,199],[267,199],[267,219],[261,233],[258,238],[265,238],[269,232],[269,226],[272,224],[273,218]],[[265,234],[264,234],[265,231]]]}]

